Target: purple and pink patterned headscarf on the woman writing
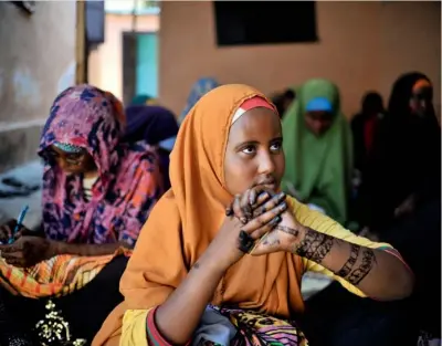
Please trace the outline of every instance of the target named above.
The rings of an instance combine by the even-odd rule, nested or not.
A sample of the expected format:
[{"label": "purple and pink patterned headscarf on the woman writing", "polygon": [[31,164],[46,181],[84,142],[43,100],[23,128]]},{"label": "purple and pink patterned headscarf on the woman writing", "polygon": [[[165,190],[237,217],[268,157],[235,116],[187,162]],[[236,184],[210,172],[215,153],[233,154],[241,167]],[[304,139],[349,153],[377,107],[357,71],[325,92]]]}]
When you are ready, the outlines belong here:
[{"label": "purple and pink patterned headscarf on the woman writing", "polygon": [[[50,239],[75,243],[134,244],[162,193],[156,151],[147,144],[120,143],[123,105],[91,85],[61,93],[43,128],[39,155],[43,175],[43,227]],[[56,143],[82,147],[93,157],[98,179],[87,201],[83,177],[66,175],[46,149]]]}]

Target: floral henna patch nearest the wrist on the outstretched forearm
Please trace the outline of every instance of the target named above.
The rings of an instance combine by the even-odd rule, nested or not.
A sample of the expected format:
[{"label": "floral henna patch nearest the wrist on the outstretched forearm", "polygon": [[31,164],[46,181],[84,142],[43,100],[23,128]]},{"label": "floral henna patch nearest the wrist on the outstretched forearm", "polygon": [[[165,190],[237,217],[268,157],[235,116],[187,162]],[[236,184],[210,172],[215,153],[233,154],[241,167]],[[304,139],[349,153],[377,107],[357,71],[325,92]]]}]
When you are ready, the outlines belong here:
[{"label": "floral henna patch nearest the wrist on the outstretched forearm", "polygon": [[295,245],[293,252],[320,264],[330,252],[334,240],[334,237],[307,228],[303,241],[301,244]]}]

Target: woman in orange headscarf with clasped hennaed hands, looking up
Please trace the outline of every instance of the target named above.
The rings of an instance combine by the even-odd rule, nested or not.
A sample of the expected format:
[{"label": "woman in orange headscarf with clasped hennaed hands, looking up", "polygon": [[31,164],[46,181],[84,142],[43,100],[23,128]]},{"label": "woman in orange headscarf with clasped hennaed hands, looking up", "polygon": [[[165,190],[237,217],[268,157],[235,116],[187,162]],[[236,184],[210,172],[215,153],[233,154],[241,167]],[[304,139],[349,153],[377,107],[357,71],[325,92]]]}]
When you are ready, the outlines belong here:
[{"label": "woman in orange headscarf with clasped hennaed hands, looking up", "polygon": [[293,321],[306,271],[360,296],[411,293],[412,274],[390,245],[276,192],[282,137],[275,107],[250,86],[220,86],[197,103],[171,154],[172,188],[122,277],[125,302],[94,346],[307,345]]}]

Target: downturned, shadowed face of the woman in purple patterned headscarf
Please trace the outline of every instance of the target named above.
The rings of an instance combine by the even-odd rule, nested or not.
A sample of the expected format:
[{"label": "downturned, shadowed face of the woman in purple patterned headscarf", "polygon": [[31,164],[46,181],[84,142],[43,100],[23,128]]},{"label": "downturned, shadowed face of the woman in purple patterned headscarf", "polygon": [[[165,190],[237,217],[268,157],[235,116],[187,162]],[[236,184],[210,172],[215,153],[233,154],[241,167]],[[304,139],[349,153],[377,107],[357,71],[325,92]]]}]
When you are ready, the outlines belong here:
[{"label": "downturned, shadowed face of the woman in purple patterned headscarf", "polygon": [[48,149],[48,154],[66,174],[75,175],[96,171],[94,159],[86,150],[74,154],[51,146]]}]

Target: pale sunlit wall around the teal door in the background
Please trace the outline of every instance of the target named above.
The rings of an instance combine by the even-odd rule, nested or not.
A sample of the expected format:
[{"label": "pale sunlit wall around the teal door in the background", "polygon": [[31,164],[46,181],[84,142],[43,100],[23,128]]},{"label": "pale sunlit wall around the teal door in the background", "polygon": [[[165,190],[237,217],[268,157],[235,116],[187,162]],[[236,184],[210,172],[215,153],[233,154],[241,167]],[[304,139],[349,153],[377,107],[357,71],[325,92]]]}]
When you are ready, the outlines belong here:
[{"label": "pale sunlit wall around the teal door in the background", "polygon": [[[123,33],[131,31],[130,14],[106,13],[105,43],[92,51],[88,61],[88,81],[123,99]],[[158,14],[138,15],[136,30],[157,32]],[[134,81],[135,85],[135,81]]]}]

